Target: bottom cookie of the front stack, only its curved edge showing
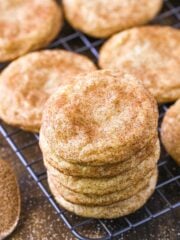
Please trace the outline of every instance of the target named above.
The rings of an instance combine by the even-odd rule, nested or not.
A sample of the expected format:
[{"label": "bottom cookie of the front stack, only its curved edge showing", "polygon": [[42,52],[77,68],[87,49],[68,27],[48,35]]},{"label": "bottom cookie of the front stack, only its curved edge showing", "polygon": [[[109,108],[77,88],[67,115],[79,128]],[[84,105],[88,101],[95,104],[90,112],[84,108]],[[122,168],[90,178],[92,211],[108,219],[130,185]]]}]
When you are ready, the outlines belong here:
[{"label": "bottom cookie of the front stack, only its curved edge showing", "polygon": [[53,184],[50,182],[50,189],[55,196],[56,201],[65,209],[82,217],[92,218],[117,218],[135,212],[142,207],[155,190],[158,173],[151,177],[149,184],[136,195],[129,199],[111,204],[109,206],[85,206],[73,204],[66,201],[58,194]]}]

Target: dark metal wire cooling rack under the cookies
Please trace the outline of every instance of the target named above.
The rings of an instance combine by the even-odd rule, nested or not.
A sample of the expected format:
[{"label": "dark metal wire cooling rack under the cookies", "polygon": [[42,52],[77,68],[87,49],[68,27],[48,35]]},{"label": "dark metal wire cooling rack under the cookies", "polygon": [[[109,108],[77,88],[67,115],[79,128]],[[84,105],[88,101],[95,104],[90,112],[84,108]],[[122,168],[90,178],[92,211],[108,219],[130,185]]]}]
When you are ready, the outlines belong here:
[{"label": "dark metal wire cooling rack under the cookies", "polygon": [[[177,28],[180,27],[179,1],[165,0],[162,12],[152,21],[152,24],[154,23],[171,25]],[[65,23],[60,36],[58,36],[48,48],[65,48],[70,51],[83,53],[96,62],[98,49],[102,43],[103,40],[89,38],[81,32],[73,30]],[[4,68],[5,65],[6,64],[0,64],[0,68]],[[161,123],[167,108],[168,105],[159,107],[159,123]],[[174,161],[162,148],[161,158],[158,164],[158,184],[155,193],[144,207],[134,214],[115,220],[95,220],[75,216],[60,208],[49,191],[46,171],[38,146],[38,136],[9,127],[2,121],[0,121],[0,133],[40,187],[59,217],[78,239],[112,239],[170,210],[180,207],[180,196],[178,196],[180,172]]]}]

